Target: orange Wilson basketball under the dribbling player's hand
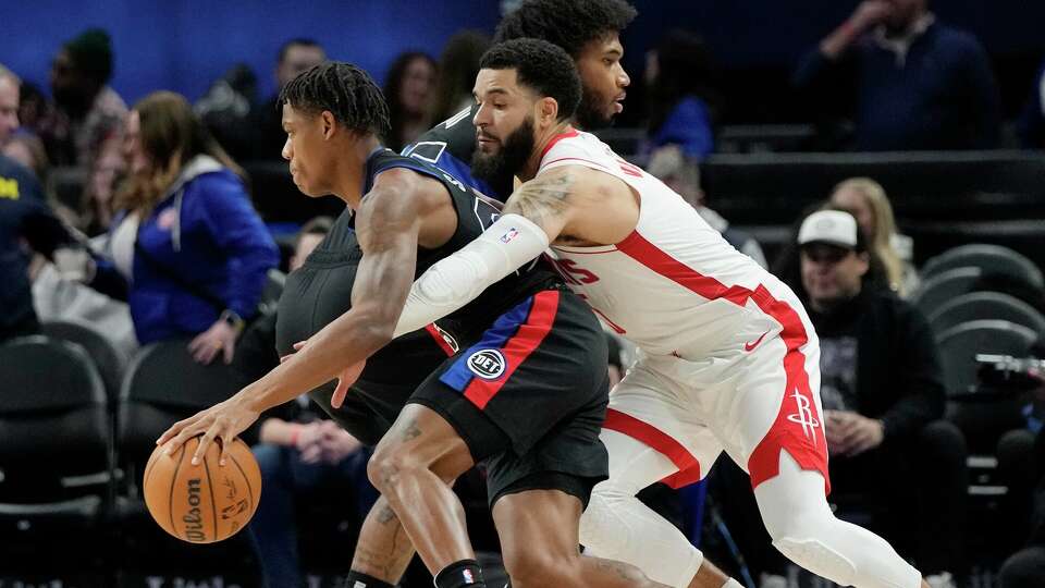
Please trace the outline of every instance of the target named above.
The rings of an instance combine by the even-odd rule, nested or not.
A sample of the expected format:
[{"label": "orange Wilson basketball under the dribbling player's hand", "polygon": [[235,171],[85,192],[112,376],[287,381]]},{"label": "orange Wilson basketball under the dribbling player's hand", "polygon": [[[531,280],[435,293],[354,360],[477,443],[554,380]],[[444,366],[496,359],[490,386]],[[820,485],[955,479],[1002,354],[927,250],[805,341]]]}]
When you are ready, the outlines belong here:
[{"label": "orange Wilson basketball under the dribbling player's hand", "polygon": [[235,535],[258,507],[261,470],[250,448],[233,439],[225,465],[218,465],[218,443],[211,443],[199,465],[193,454],[199,437],[172,455],[157,446],[145,466],[143,489],[149,514],[163,530],[190,543],[212,543]]}]

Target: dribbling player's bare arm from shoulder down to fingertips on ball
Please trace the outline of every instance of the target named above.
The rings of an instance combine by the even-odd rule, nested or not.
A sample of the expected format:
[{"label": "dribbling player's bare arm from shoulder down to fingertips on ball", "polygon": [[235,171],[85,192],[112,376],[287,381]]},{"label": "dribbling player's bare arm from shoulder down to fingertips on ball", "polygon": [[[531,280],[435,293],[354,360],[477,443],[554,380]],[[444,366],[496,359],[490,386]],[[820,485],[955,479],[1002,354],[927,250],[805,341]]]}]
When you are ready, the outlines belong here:
[{"label": "dribbling player's bare arm from shoulder down to fingertips on ball", "polygon": [[[379,180],[385,175],[396,176],[385,172]],[[414,281],[420,209],[426,206],[425,201],[410,185],[379,181],[364,198],[356,219],[356,234],[364,255],[356,271],[352,309],[311,336],[300,351],[260,380],[231,399],[174,424],[157,443],[167,443],[167,451],[173,452],[188,439],[204,433],[194,461],[205,454],[214,439],[221,439],[222,446],[228,446],[261,412],[332,380],[346,367],[359,364],[392,341],[396,319]]]}]

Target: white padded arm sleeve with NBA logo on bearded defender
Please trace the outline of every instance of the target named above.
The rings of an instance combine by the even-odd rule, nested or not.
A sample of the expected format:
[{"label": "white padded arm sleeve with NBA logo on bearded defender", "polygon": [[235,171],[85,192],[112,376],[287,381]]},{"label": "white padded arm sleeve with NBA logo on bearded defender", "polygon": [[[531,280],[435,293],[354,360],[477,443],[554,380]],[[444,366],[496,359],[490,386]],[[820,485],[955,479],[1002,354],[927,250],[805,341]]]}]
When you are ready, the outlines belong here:
[{"label": "white padded arm sleeve with NBA logo on bearded defender", "polygon": [[543,229],[519,215],[501,217],[478,238],[428,268],[414,282],[395,336],[459,309],[546,248]]}]

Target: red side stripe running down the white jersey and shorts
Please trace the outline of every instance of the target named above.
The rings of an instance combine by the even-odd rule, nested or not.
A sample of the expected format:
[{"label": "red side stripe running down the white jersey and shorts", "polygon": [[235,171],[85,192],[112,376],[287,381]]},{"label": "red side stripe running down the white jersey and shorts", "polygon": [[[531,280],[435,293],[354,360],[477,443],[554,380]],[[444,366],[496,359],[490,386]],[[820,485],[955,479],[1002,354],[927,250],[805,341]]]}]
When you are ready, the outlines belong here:
[{"label": "red side stripe running down the white jersey and shorts", "polygon": [[[806,355],[801,352],[809,336],[798,313],[787,303],[773,297],[773,294],[762,284],[753,291],[739,285],[726,286],[710,275],[699,273],[647,241],[638,231],[632,231],[618,243],[617,249],[709,301],[726,299],[737,306],[745,306],[749,299],[753,301],[763,313],[780,323],[783,327],[780,339],[787,346],[787,353],[784,356],[784,370],[787,376],[785,402],[780,406],[776,422],[748,460],[751,483],[758,486],[776,477],[779,474],[779,452],[786,449],[802,469],[819,470],[824,476],[825,490],[831,492],[827,476],[827,439],[824,437],[823,420],[813,402],[812,390],[809,388]],[[792,395],[789,396],[789,394]],[[796,395],[804,399],[801,404]],[[789,399],[794,399],[794,402]],[[798,412],[789,412],[790,408]],[[803,415],[808,415],[811,420],[807,420]],[[797,419],[789,418],[796,416]]]}]

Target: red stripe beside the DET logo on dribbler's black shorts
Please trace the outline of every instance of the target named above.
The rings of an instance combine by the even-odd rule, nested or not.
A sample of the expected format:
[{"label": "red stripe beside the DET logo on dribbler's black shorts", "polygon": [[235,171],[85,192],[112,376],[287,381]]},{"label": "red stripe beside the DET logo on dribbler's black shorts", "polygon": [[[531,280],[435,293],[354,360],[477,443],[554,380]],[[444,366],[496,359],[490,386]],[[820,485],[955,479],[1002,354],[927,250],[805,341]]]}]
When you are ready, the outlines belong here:
[{"label": "red stripe beside the DET logo on dribbler's black shorts", "polygon": [[474,378],[468,388],[465,389],[465,397],[480,409],[485,408],[487,404],[493,400],[501,388],[504,387],[515,370],[526,362],[526,358],[533,353],[533,350],[541,345],[548,332],[552,330],[555,322],[555,314],[558,311],[558,291],[545,290],[533,295],[533,305],[530,306],[530,314],[526,322],[519,324],[519,330],[512,336],[501,353],[504,355],[507,367],[504,373],[496,380],[483,380]]}]

